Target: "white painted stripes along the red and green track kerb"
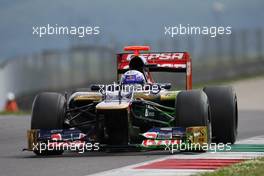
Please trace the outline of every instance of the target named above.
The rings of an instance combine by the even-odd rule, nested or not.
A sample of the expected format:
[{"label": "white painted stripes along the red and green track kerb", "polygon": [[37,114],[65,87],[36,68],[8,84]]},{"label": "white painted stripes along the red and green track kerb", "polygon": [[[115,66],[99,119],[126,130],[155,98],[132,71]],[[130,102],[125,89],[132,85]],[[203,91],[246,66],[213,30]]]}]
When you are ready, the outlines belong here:
[{"label": "white painted stripes along the red and green track kerb", "polygon": [[[256,136],[238,141],[236,144],[264,144],[264,135]],[[206,152],[206,153],[176,153],[163,158],[141,162],[121,168],[116,168],[104,172],[91,174],[90,176],[177,176],[193,175],[199,172],[211,172],[213,170],[196,170],[196,169],[134,169],[135,167],[150,164],[166,159],[254,159],[264,156],[264,152]]]}]

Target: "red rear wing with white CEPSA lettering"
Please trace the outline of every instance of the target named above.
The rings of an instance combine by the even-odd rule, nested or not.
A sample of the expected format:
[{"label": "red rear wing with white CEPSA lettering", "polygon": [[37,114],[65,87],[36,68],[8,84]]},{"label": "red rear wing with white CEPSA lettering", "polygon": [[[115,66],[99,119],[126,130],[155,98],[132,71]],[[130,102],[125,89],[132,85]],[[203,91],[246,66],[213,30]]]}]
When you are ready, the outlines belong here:
[{"label": "red rear wing with white CEPSA lettering", "polygon": [[[130,59],[133,53],[117,54],[117,73],[122,74],[129,70]],[[149,72],[182,72],[186,74],[186,89],[192,88],[192,65],[188,52],[151,52],[140,53],[145,59],[145,67]]]}]

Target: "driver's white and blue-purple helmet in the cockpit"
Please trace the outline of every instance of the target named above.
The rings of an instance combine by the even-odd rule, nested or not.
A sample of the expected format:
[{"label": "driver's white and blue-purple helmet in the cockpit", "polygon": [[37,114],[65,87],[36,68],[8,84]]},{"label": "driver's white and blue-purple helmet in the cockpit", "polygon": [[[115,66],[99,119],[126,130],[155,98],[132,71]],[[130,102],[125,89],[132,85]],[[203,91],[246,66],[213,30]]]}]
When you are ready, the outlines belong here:
[{"label": "driver's white and blue-purple helmet in the cockpit", "polygon": [[137,70],[129,70],[121,77],[121,84],[145,84],[144,75]]}]

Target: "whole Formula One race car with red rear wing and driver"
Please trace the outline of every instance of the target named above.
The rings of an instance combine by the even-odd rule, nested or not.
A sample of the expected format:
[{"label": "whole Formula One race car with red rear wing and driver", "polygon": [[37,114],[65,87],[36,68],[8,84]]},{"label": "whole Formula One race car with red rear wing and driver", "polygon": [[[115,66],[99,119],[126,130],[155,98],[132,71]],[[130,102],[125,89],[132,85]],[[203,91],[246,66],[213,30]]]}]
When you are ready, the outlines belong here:
[{"label": "whole Formula One race car with red rear wing and driver", "polygon": [[[188,145],[185,151],[204,151],[201,147],[212,142],[235,142],[238,114],[232,87],[192,90],[187,52],[149,53],[148,46],[124,50],[133,52],[117,54],[117,83],[36,96],[27,150],[52,155],[69,149],[179,150]],[[185,73],[186,90],[155,83],[151,72]]]}]

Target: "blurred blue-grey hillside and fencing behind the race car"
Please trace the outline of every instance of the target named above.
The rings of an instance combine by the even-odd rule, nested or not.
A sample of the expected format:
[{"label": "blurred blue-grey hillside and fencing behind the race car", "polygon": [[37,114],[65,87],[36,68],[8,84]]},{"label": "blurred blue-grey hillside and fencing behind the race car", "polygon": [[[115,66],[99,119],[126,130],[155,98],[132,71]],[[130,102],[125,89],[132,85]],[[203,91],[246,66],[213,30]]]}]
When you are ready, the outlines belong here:
[{"label": "blurred blue-grey hillside and fencing behind the race car", "polygon": [[[263,7],[262,0],[1,0],[0,109],[9,92],[29,110],[38,92],[115,81],[115,53],[125,45],[190,52],[195,83],[262,74]],[[32,35],[33,26],[47,24],[100,26],[100,34]],[[179,24],[231,26],[232,34],[164,35],[164,26]],[[155,77],[177,80],[174,74]]]}]

